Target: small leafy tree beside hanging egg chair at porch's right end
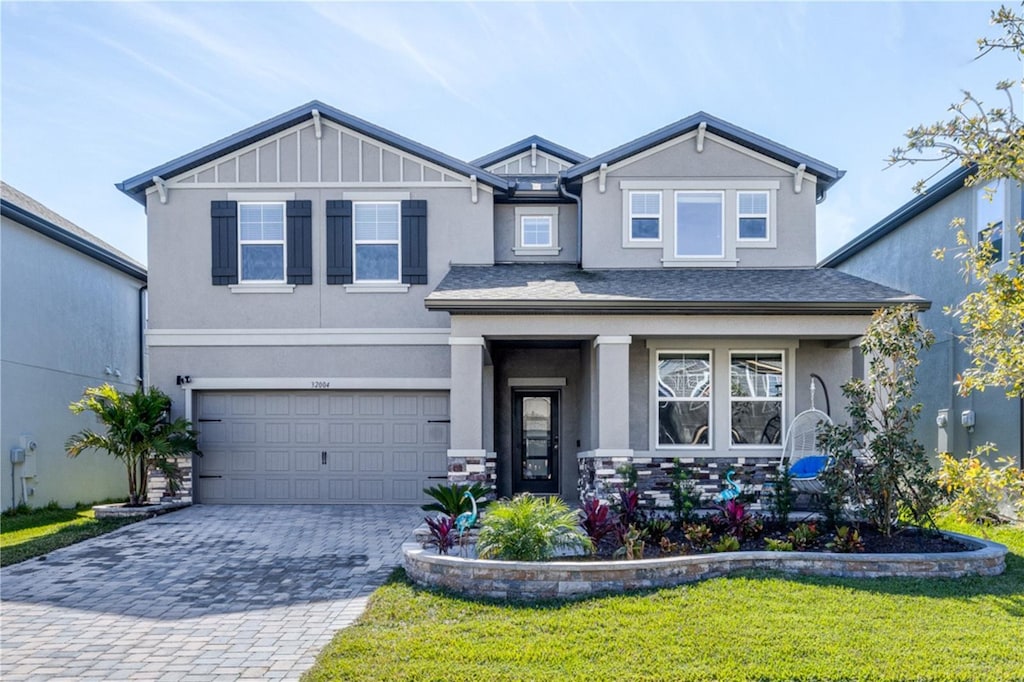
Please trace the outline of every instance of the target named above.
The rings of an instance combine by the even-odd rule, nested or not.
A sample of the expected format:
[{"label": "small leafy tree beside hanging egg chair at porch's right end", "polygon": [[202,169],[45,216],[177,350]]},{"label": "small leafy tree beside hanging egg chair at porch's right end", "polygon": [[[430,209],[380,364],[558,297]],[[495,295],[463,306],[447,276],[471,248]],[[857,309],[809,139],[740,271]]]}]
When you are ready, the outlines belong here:
[{"label": "small leafy tree beside hanging egg chair at porch's right end", "polygon": [[[903,510],[916,523],[934,525],[931,466],[913,438],[921,404],[910,403],[918,353],[933,341],[911,306],[883,308],[872,316],[861,343],[866,381],[853,379],[843,386],[850,422],[826,426],[822,434],[836,458],[825,475],[830,516],[855,504],[886,535]],[[857,462],[859,449],[867,455],[864,464]]]}]

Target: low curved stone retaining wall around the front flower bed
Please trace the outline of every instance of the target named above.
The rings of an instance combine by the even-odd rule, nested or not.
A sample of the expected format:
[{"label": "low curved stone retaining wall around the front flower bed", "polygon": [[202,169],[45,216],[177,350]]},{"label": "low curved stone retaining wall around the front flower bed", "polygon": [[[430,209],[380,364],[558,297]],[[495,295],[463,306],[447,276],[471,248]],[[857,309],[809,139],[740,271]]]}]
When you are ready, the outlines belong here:
[{"label": "low curved stone retaining wall around the front flower bed", "polygon": [[543,562],[440,556],[417,543],[407,543],[402,552],[406,572],[418,585],[524,601],[673,587],[751,568],[842,578],[998,576],[1006,568],[1005,546],[956,532],[945,535],[976,549],[932,554],[723,552],[638,561]]}]

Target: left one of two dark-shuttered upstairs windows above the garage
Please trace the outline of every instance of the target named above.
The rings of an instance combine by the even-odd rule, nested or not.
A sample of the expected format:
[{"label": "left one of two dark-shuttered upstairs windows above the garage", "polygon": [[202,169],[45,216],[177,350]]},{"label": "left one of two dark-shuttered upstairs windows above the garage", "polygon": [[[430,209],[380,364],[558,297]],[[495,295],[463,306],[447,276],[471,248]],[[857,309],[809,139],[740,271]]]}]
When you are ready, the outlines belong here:
[{"label": "left one of two dark-shuttered upstairs windows above the garage", "polygon": [[239,282],[285,281],[285,204],[239,204]]}]

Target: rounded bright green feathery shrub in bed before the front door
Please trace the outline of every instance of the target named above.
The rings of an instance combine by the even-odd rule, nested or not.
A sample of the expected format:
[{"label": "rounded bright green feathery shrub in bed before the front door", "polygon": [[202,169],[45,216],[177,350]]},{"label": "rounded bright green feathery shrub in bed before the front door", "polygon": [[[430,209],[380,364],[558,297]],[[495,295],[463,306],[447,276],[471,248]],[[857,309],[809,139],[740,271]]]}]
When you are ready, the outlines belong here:
[{"label": "rounded bright green feathery shrub in bed before the front door", "polygon": [[476,543],[481,559],[546,561],[558,550],[590,551],[591,542],[564,502],[528,493],[493,505]]}]

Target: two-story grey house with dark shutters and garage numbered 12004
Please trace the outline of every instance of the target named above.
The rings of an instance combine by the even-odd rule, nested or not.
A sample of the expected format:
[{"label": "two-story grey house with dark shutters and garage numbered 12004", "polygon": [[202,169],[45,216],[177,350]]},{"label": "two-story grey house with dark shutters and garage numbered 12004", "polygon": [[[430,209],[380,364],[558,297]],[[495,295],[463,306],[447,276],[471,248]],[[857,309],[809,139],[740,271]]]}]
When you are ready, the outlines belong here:
[{"label": "two-story grey house with dark shutters and garage numbered 12004", "polygon": [[667,500],[673,458],[760,485],[811,375],[838,394],[871,311],[927,305],[815,268],[842,175],[702,113],[466,163],[313,101],[118,186],[198,500],[415,504],[575,499],[627,462]]}]

